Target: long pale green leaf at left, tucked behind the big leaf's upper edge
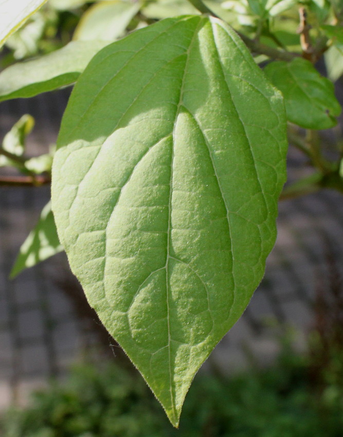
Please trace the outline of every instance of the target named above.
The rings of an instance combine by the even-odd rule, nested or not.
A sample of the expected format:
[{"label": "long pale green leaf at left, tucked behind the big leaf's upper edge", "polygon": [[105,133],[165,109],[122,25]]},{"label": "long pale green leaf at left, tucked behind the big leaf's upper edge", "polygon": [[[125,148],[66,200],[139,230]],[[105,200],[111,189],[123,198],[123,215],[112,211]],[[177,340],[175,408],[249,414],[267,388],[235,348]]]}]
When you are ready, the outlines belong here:
[{"label": "long pale green leaf at left, tucked behind the big leaf's upper edge", "polygon": [[106,41],[75,41],[32,61],[14,64],[0,73],[0,101],[32,97],[70,85]]}]

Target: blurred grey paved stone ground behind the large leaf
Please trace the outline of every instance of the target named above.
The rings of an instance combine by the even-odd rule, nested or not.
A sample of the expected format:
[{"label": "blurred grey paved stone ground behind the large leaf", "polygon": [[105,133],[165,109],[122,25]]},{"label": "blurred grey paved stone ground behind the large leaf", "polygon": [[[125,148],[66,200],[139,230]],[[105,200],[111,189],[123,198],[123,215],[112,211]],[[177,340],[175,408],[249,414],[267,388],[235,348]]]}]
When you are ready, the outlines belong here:
[{"label": "blurred grey paved stone ground behind the large leaf", "polygon": [[[44,152],[56,140],[67,95],[64,91],[2,103],[1,134],[30,113],[37,128],[29,138],[29,153]],[[290,179],[304,171],[297,151],[290,152],[288,167]],[[24,402],[31,388],[63,375],[89,350],[93,356],[100,350],[112,354],[112,340],[89,311],[64,254],[8,279],[16,253],[48,198],[48,187],[0,188],[0,408]],[[261,363],[272,360],[278,351],[275,329],[270,329],[273,320],[294,326],[299,347],[304,347],[304,335],[315,323],[315,296],[323,290],[330,293],[329,255],[343,265],[342,198],[326,191],[280,204],[278,239],[265,278],[210,363],[241,367],[247,362],[246,350]]]}]

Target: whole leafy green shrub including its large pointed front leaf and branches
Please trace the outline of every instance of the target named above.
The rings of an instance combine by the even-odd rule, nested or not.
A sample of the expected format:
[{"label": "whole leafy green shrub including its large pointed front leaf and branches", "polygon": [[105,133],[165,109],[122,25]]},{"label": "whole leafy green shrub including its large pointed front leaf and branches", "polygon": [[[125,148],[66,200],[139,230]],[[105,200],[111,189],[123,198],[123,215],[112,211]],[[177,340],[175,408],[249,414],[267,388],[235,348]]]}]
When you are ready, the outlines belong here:
[{"label": "whole leafy green shrub including its large pointed front leaf and branches", "polygon": [[[20,20],[42,2],[26,3]],[[0,12],[13,8],[3,2]],[[343,72],[343,4],[44,8],[56,17],[51,38],[62,28],[66,45],[1,72],[0,99],[76,85],[56,153],[29,164],[23,145],[0,150],[24,173],[3,184],[50,183],[55,153],[53,215],[48,204],[12,274],[63,246],[89,303],[177,426],[196,371],[262,279],[285,181],[286,120],[314,171],[281,196],[343,191],[342,138],[329,161],[317,134],[335,126],[341,108],[314,66],[324,54],[331,80]],[[13,29],[1,26],[5,41]],[[41,32],[35,41],[46,40]]]}]

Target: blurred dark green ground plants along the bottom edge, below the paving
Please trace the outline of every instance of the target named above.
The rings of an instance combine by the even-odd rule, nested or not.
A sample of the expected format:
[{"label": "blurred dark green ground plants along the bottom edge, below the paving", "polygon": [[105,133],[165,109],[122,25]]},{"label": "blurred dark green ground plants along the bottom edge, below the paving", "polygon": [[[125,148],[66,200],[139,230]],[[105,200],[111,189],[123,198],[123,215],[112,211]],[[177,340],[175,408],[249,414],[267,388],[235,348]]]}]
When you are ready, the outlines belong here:
[{"label": "blurred dark green ground plants along the bottom edge, below the paving", "polygon": [[[0,422],[4,437],[333,437],[343,426],[343,391],[318,397],[311,359],[285,347],[268,370],[198,375],[174,430],[138,374],[118,365],[77,367],[65,385],[34,395]],[[327,373],[327,377],[333,372]],[[326,385],[328,388],[328,385]]]}]

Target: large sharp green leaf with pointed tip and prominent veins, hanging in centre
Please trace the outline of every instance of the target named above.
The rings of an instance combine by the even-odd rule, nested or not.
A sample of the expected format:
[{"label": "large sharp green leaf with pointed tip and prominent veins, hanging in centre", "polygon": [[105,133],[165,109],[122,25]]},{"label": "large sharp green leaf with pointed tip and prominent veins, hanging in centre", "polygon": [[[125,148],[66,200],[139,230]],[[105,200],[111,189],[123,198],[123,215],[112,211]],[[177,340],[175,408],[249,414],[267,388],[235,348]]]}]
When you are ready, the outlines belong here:
[{"label": "large sharp green leaf with pointed tip and prominent veins, hanging in centre", "polygon": [[175,426],[263,276],[285,154],[281,95],[213,18],[111,44],[70,97],[52,167],[60,240]]}]

